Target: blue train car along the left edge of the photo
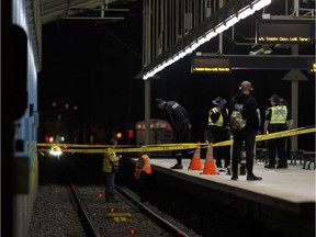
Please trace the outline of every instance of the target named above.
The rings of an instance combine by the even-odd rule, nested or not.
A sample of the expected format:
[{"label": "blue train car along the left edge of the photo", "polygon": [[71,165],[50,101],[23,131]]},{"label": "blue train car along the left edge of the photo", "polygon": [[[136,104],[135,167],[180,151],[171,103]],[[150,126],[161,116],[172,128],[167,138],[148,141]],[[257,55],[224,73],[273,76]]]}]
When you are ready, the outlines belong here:
[{"label": "blue train car along the left edge of the photo", "polygon": [[37,192],[37,154],[29,145],[37,142],[40,120],[40,1],[1,2],[2,236],[27,236]]}]

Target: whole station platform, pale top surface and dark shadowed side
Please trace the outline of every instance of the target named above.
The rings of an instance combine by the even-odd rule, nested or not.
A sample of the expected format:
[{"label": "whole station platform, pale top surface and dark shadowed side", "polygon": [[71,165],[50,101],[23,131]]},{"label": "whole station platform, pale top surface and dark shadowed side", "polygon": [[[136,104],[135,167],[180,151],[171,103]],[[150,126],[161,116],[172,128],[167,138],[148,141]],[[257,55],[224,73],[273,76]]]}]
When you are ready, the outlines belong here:
[{"label": "whole station platform, pale top surface and dark shadowed side", "polygon": [[160,182],[210,202],[251,213],[270,229],[281,229],[281,236],[315,236],[315,169],[303,169],[302,163],[287,169],[267,169],[255,160],[253,173],[261,181],[247,181],[239,176],[230,180],[227,169],[216,169],[218,174],[202,174],[201,170],[188,169],[191,159],[182,159],[183,169],[170,169],[174,158],[150,157],[153,172]]}]

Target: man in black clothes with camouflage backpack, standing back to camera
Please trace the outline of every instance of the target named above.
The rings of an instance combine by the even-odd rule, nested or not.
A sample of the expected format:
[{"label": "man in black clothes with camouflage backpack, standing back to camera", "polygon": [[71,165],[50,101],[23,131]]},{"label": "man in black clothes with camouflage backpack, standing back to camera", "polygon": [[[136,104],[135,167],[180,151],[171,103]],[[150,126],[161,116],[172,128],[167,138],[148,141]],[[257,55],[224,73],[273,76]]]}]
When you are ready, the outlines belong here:
[{"label": "man in black clothes with camouflage backpack, standing back to camera", "polygon": [[245,143],[246,151],[246,168],[247,180],[256,181],[262,180],[261,177],[256,177],[253,170],[253,148],[256,143],[256,135],[260,129],[260,110],[256,98],[251,95],[253,88],[249,81],[242,81],[239,91],[230,99],[228,110],[229,116],[233,111],[240,111],[242,119],[246,121],[246,126],[238,131],[233,131],[233,158],[232,158],[232,180],[238,180],[238,162],[240,161],[240,154]]}]

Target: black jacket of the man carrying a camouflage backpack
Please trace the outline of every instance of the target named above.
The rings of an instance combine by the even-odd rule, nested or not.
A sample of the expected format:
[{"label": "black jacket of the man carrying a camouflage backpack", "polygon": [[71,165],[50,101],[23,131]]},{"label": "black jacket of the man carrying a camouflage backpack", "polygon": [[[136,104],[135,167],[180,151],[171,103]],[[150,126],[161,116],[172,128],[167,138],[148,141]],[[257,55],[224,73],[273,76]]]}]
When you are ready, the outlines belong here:
[{"label": "black jacket of the man carrying a camouflage backpack", "polygon": [[235,131],[234,134],[247,133],[249,131],[259,131],[261,125],[260,110],[256,98],[251,94],[246,94],[239,91],[232,98],[228,104],[230,116],[234,110],[238,110],[242,114],[242,119],[246,120],[246,126],[240,131]]}]

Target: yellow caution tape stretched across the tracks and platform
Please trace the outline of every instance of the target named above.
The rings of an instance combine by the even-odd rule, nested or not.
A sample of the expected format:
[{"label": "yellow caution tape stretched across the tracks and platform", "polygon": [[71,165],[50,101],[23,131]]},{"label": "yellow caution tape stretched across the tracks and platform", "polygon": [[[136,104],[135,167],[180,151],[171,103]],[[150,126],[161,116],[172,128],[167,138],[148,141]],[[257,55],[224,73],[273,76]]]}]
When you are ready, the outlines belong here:
[{"label": "yellow caution tape stretched across the tracks and platform", "polygon": [[[274,139],[280,137],[290,137],[297,136],[307,133],[315,133],[316,126],[294,128],[278,133],[263,134],[256,136],[256,142]],[[133,147],[132,145],[116,145],[115,147],[111,145],[84,145],[84,144],[52,144],[52,143],[32,143],[29,144],[29,151],[34,150],[33,147],[37,148],[37,151],[41,155],[44,155],[45,151],[49,151],[52,147],[58,146],[61,148],[63,153],[86,153],[86,154],[104,154],[104,153],[144,153],[144,151],[167,151],[167,150],[182,150],[182,149],[195,149],[208,148],[210,146],[219,147],[219,146],[230,146],[233,140],[224,140],[216,144],[206,143],[183,143],[183,144],[159,144],[159,145],[146,145],[138,147]],[[38,147],[44,147],[40,148]],[[45,148],[46,147],[46,148]],[[67,148],[63,148],[67,147]],[[109,149],[111,148],[111,149]]]}]

